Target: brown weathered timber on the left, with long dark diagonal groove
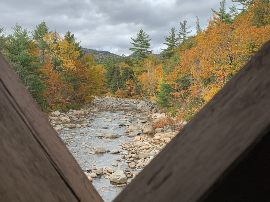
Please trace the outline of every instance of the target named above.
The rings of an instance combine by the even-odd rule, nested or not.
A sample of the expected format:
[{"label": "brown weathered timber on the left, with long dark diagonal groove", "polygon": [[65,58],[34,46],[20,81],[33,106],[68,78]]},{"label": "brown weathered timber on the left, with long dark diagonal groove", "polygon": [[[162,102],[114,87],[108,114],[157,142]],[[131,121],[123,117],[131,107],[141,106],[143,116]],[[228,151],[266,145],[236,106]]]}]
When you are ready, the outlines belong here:
[{"label": "brown weathered timber on the left, with long dark diagonal groove", "polygon": [[0,201],[102,202],[1,53],[0,72]]}]

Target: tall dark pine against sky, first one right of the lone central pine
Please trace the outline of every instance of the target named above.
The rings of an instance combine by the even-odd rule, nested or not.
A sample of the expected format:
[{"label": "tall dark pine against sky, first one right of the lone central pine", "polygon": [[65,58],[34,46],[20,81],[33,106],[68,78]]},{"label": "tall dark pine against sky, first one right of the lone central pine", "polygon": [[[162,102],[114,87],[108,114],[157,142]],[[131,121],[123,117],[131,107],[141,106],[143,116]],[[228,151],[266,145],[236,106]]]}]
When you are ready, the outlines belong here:
[{"label": "tall dark pine against sky, first one right of the lone central pine", "polygon": [[177,29],[175,29],[174,27],[171,28],[171,32],[169,31],[170,33],[170,36],[164,36],[165,38],[165,45],[167,45],[168,47],[166,49],[161,49],[162,52],[161,52],[161,56],[160,56],[160,59],[164,60],[166,58],[171,58],[171,56],[173,55],[173,49],[177,47],[177,41],[179,39],[179,37],[175,37],[175,32],[177,31]]}]

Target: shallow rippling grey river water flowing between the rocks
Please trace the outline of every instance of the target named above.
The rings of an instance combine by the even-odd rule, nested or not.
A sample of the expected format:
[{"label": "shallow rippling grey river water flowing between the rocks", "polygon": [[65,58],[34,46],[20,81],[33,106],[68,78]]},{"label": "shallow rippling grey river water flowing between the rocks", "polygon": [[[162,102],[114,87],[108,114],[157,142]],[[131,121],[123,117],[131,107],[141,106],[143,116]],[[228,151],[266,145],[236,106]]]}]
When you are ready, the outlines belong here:
[{"label": "shallow rippling grey river water flowing between the rocks", "polygon": [[[119,101],[112,102],[119,103]],[[117,162],[115,158],[122,156],[120,153],[111,154],[106,152],[102,154],[89,154],[89,152],[94,152],[91,148],[99,146],[103,146],[105,150],[118,149],[120,152],[126,152],[126,150],[121,149],[119,144],[122,144],[123,142],[131,142],[133,138],[124,135],[124,131],[127,130],[127,126],[123,126],[121,128],[117,128],[117,126],[119,126],[120,123],[124,123],[125,125],[138,124],[137,119],[147,118],[145,115],[138,113],[141,117],[128,116],[126,118],[130,120],[130,123],[120,121],[120,117],[125,116],[127,112],[133,112],[132,114],[134,114],[136,111],[136,105],[126,104],[117,108],[105,109],[95,112],[94,114],[84,115],[85,119],[76,122],[76,124],[87,123],[90,125],[89,127],[85,127],[84,129],[64,128],[63,130],[58,131],[58,134],[82,169],[94,169],[95,167],[110,167],[114,170],[120,168],[129,169],[127,163],[124,163],[124,161],[118,162],[117,167],[111,165],[112,163]],[[115,120],[112,120],[112,122],[104,122],[107,118]],[[101,127],[107,127],[107,129],[101,129]],[[116,133],[119,134],[120,137],[114,139],[99,138],[100,134],[104,135],[106,133]],[[82,144],[84,142],[86,144]],[[128,179],[128,181],[131,181],[131,179]],[[104,175],[93,178],[93,186],[105,202],[112,201],[125,187],[117,187],[116,185],[116,183],[110,182],[109,179],[105,179]]]}]

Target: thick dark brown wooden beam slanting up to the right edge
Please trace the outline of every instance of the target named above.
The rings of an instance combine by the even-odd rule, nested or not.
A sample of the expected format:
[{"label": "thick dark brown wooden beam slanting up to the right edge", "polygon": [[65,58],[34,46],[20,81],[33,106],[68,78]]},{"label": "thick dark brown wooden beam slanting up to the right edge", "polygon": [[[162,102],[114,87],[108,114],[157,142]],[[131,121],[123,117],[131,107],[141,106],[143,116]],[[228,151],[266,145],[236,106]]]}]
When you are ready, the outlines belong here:
[{"label": "thick dark brown wooden beam slanting up to the right edge", "polygon": [[114,202],[199,201],[269,134],[269,126],[270,41]]}]

